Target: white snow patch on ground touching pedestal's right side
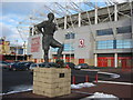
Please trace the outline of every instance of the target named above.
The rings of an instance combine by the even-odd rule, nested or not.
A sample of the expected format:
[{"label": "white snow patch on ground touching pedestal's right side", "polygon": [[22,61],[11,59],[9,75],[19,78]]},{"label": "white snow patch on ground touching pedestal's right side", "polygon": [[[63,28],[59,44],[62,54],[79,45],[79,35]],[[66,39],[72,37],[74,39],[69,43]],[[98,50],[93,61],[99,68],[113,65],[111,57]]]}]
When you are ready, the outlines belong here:
[{"label": "white snow patch on ground touching pedestal's right side", "polygon": [[89,88],[94,87],[95,84],[90,82],[79,83],[79,84],[71,84],[71,89],[81,89],[81,88]]}]

